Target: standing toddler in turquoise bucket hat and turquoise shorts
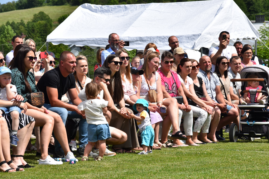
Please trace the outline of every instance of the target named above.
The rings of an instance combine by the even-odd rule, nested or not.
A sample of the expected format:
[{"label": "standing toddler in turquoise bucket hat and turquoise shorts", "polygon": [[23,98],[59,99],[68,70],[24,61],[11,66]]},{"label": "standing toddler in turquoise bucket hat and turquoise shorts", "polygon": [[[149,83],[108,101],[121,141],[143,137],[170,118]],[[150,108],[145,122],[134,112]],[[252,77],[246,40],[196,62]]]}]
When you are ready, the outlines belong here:
[{"label": "standing toddler in turquoise bucket hat and turquoise shorts", "polygon": [[148,102],[145,99],[138,99],[133,105],[133,109],[138,113],[136,115],[130,113],[128,116],[137,120],[137,126],[141,132],[143,151],[138,154],[147,155],[148,153],[152,153],[150,146],[153,146],[154,141],[154,130],[148,115]]}]

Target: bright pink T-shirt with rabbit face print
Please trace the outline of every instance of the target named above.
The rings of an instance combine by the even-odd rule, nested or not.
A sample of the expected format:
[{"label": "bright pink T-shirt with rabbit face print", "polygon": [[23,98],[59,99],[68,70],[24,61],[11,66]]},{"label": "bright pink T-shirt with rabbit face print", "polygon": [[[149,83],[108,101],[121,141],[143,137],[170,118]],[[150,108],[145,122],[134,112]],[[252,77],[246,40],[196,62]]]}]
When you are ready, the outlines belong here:
[{"label": "bright pink T-shirt with rabbit face print", "polygon": [[171,97],[177,96],[177,90],[180,87],[181,83],[178,79],[177,73],[173,70],[170,70],[171,74],[175,78],[173,79],[172,75],[170,78],[167,78],[161,70],[158,70],[158,73],[161,76],[161,85],[165,87],[166,91],[170,94]]}]

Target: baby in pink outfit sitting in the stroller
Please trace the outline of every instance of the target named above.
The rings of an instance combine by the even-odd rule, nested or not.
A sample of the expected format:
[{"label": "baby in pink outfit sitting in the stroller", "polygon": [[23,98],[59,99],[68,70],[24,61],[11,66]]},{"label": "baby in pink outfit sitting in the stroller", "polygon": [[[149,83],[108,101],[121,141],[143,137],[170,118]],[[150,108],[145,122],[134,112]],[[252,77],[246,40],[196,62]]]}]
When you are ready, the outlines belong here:
[{"label": "baby in pink outfit sitting in the stroller", "polygon": [[[251,74],[248,76],[248,78],[258,78],[256,75]],[[257,89],[257,90],[262,90],[262,86],[259,85],[258,81],[253,81],[253,82],[247,82],[247,87],[246,90],[250,90],[250,89]],[[260,104],[264,104],[264,101],[266,100],[266,96],[262,95],[262,93],[257,92],[256,93],[256,97],[255,97],[255,102],[256,103],[260,103]],[[250,103],[250,94],[249,92],[244,93],[243,97],[241,97],[239,99],[240,103],[243,105],[246,105],[248,103]]]}]

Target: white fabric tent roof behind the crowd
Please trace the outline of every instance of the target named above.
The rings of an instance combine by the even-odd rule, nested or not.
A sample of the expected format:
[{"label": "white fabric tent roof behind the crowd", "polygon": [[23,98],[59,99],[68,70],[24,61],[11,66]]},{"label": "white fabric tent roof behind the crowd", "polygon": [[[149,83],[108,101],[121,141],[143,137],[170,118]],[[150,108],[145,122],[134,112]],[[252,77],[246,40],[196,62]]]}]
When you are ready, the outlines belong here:
[{"label": "white fabric tent roof behind the crowd", "polygon": [[101,6],[82,4],[50,35],[54,45],[108,44],[108,35],[117,33],[130,41],[125,49],[144,49],[152,42],[158,49],[169,50],[168,37],[175,35],[183,49],[210,48],[219,44],[221,31],[230,39],[259,38],[259,32],[233,0],[149,3]]}]

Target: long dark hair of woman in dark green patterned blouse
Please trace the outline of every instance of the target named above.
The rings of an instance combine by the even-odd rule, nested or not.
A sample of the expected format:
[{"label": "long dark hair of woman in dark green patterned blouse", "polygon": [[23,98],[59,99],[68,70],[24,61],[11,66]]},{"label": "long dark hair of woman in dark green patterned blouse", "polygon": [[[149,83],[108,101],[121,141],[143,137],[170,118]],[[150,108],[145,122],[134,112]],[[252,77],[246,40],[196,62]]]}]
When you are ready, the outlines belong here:
[{"label": "long dark hair of woman in dark green patterned blouse", "polygon": [[23,78],[24,78],[24,81],[25,81],[25,84],[26,84],[26,90],[29,93],[31,93],[32,90],[31,90],[31,87],[30,87],[29,82],[27,81],[27,76],[26,76],[26,71],[25,71],[25,64],[24,64],[24,58],[25,58],[26,54],[28,52],[30,52],[30,51],[32,51],[34,54],[36,54],[36,53],[29,46],[25,46],[23,44],[17,45],[17,47],[15,48],[14,51],[17,51],[17,54],[13,58],[13,63],[11,65],[10,69],[18,68],[18,70],[23,75]]}]

